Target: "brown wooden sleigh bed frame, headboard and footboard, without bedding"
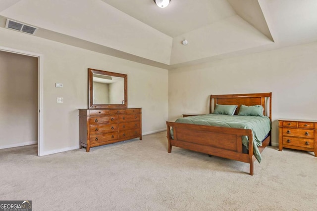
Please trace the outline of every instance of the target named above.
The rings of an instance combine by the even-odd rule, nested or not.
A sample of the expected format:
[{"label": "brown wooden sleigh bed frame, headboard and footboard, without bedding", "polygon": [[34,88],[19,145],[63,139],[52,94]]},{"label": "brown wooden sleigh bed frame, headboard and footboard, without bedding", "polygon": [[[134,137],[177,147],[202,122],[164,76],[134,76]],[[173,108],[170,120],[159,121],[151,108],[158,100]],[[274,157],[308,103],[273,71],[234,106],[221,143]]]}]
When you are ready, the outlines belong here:
[{"label": "brown wooden sleigh bed frame, headboard and footboard, without bedding", "polygon": [[[238,105],[235,115],[238,114],[240,105],[262,105],[264,115],[271,118],[272,92],[254,94],[224,94],[210,96],[210,113],[215,104]],[[269,104],[268,112],[265,105]],[[213,109],[212,109],[213,107]],[[222,158],[241,161],[250,164],[250,175],[253,175],[253,163],[256,160],[253,155],[253,136],[251,129],[240,129],[231,127],[203,126],[184,123],[166,122],[168,153],[172,151],[172,146],[206,153]],[[174,139],[170,134],[173,127]],[[249,154],[242,151],[242,136],[249,138]],[[271,145],[271,131],[259,147],[260,153],[267,145]]]}]

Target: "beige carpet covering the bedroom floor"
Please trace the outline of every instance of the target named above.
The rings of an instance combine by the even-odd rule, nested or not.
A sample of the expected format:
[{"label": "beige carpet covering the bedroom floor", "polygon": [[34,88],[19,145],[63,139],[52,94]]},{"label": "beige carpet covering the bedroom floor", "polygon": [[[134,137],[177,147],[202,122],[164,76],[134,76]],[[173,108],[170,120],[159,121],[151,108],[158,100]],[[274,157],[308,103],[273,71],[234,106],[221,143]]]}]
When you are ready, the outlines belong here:
[{"label": "beige carpet covering the bedroom floor", "polygon": [[165,132],[38,157],[37,146],[0,150],[0,200],[33,211],[317,210],[317,158],[268,147],[261,164],[177,147]]}]

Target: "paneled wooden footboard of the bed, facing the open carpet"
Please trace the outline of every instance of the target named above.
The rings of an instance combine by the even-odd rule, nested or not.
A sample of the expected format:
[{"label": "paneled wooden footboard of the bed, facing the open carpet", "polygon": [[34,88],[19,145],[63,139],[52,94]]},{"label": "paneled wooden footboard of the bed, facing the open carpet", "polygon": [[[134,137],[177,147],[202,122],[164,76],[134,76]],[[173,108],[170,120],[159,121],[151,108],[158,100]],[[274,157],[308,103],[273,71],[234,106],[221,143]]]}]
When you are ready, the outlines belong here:
[{"label": "paneled wooden footboard of the bed, facing the open carpet", "polygon": [[[172,146],[176,146],[249,163],[250,175],[253,175],[253,163],[256,158],[253,156],[253,136],[251,129],[213,127],[174,122],[166,122],[166,126],[169,153],[172,150]],[[171,134],[171,128],[173,128],[173,134]],[[242,152],[243,136],[248,136],[249,138],[249,154]],[[267,145],[270,138],[268,137],[266,139]]]}]

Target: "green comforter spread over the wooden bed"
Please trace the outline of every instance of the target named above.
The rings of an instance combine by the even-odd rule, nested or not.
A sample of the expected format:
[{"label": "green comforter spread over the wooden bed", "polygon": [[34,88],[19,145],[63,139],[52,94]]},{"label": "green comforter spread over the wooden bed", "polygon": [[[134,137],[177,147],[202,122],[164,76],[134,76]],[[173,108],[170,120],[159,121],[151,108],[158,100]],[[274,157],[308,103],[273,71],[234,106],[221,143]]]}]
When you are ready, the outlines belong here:
[{"label": "green comforter spread over the wooden bed", "polygon": [[[258,162],[262,160],[258,146],[262,146],[262,140],[271,129],[271,122],[268,117],[255,116],[229,116],[221,114],[206,114],[202,116],[184,117],[175,121],[176,123],[187,123],[195,125],[219,126],[219,127],[234,127],[243,129],[252,129],[253,134],[253,153]],[[173,131],[171,131],[173,138]],[[249,146],[248,137],[245,136],[242,144]]]}]

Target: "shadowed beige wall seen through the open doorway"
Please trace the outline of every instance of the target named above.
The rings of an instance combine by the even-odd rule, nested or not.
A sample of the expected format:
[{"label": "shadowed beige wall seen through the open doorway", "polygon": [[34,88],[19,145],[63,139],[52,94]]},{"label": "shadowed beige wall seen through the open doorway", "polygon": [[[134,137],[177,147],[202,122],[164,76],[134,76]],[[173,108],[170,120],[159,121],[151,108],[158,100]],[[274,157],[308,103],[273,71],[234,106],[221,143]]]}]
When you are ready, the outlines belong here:
[{"label": "shadowed beige wall seen through the open doorway", "polygon": [[0,51],[0,149],[38,142],[38,58]]}]

